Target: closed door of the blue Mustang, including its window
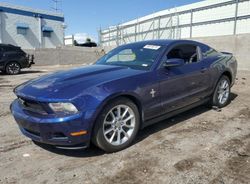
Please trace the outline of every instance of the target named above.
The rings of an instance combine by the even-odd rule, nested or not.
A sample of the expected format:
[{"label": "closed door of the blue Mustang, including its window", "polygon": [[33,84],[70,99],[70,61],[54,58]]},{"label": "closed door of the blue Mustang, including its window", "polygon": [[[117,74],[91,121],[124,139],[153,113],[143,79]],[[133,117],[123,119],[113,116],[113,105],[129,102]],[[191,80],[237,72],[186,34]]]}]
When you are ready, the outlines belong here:
[{"label": "closed door of the blue Mustang, including its window", "polygon": [[[170,112],[199,101],[206,95],[209,75],[196,44],[177,44],[164,56],[165,60],[180,58],[184,65],[158,70],[164,112]],[[164,60],[164,59],[163,59]]]}]

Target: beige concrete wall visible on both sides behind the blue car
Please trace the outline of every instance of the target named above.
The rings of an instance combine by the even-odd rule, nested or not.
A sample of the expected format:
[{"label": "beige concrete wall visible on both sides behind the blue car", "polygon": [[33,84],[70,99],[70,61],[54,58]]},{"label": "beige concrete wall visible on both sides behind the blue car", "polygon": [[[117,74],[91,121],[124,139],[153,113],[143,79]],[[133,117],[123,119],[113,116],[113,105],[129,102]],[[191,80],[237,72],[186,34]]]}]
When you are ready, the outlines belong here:
[{"label": "beige concrete wall visible on both sides behind the blue car", "polygon": [[[238,60],[240,70],[250,70],[250,34],[193,38],[218,51],[231,52]],[[112,47],[105,47],[108,52]],[[91,64],[104,55],[102,48],[60,47],[56,49],[26,50],[34,54],[36,65]]]}]

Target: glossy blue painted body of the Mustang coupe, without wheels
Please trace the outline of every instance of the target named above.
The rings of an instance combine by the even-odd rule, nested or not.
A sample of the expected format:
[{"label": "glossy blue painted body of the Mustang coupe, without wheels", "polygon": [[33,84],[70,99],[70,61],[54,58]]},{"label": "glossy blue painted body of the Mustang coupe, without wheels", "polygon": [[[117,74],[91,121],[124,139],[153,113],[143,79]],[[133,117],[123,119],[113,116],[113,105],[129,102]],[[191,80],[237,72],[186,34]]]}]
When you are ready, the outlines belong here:
[{"label": "glossy blue painted body of the Mustang coupe, without wheels", "polygon": [[[199,53],[200,60],[190,63],[189,57],[183,54],[183,59],[188,59],[186,64],[164,67],[163,64],[171,57],[178,57],[168,54],[179,44],[199,47],[202,52]],[[132,61],[107,62],[117,53],[129,49],[136,53]],[[20,100],[12,103],[11,112],[23,134],[33,140],[52,145],[88,145],[96,118],[117,97],[130,97],[136,102],[140,107],[142,126],[145,126],[159,117],[210,98],[224,72],[230,73],[233,85],[237,70],[235,58],[220,52],[211,54],[212,51],[211,47],[190,40],[153,40],[123,45],[94,65],[45,75],[14,89],[17,97],[26,103],[32,101],[45,114],[29,109],[30,106]],[[150,53],[155,57],[152,58]],[[152,65],[139,69],[134,67],[134,62],[141,62],[143,67],[146,67],[145,63]],[[155,91],[154,96],[151,95],[152,90]],[[55,113],[48,105],[52,102],[71,103],[78,113]],[[70,134],[81,130],[86,130],[88,134],[79,137]],[[37,132],[39,136],[36,136]],[[54,134],[58,132],[65,135],[65,139],[56,139]]]}]

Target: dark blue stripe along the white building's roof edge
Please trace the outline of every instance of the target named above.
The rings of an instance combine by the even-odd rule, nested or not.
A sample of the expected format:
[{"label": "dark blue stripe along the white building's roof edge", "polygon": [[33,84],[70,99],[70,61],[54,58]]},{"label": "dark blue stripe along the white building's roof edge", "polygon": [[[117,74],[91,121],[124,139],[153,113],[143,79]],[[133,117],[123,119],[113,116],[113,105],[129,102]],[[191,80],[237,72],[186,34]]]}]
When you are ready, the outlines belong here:
[{"label": "dark blue stripe along the white building's roof edge", "polygon": [[13,13],[13,14],[18,14],[18,15],[29,16],[29,17],[41,17],[44,19],[50,19],[50,20],[64,22],[64,17],[48,15],[48,14],[43,14],[43,13],[35,13],[35,12],[31,12],[31,11],[26,11],[26,10],[18,10],[18,9],[9,8],[9,7],[0,6],[0,11],[6,12],[6,13]]}]

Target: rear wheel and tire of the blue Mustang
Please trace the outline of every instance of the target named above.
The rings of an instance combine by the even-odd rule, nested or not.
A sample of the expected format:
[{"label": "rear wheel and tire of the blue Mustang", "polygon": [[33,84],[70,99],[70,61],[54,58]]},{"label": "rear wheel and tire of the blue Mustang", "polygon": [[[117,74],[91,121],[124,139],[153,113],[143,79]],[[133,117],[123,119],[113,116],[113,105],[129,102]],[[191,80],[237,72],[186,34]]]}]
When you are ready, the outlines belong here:
[{"label": "rear wheel and tire of the blue Mustang", "polygon": [[225,107],[230,101],[230,93],[230,80],[227,76],[223,75],[215,87],[211,105],[219,108]]}]

